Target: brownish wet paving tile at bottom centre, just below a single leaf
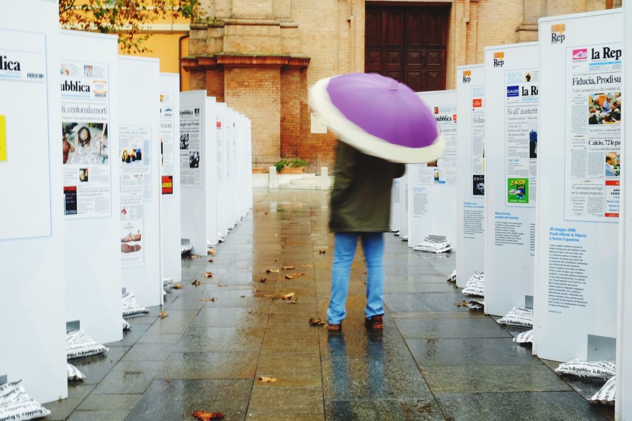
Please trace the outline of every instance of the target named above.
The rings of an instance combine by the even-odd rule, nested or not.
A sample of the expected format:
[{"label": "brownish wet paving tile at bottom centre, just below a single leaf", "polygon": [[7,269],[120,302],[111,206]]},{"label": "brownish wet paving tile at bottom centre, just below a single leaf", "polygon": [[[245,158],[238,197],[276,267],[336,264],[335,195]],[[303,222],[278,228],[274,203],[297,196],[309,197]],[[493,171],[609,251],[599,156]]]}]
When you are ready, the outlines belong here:
[{"label": "brownish wet paving tile at bottom centre, just below a single leaf", "polygon": [[300,413],[324,413],[321,387],[253,387],[249,415]]}]

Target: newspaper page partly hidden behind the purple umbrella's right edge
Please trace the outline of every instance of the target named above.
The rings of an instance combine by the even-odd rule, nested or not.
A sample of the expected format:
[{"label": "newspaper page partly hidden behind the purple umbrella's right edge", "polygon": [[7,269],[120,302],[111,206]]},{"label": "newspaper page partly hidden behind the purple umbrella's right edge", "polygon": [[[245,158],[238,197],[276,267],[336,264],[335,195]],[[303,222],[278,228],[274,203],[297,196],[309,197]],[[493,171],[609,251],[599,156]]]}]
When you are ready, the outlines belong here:
[{"label": "newspaper page partly hidden behind the purple umbrella's right edge", "polygon": [[420,184],[456,185],[456,106],[430,107],[446,142],[441,158],[419,166]]}]

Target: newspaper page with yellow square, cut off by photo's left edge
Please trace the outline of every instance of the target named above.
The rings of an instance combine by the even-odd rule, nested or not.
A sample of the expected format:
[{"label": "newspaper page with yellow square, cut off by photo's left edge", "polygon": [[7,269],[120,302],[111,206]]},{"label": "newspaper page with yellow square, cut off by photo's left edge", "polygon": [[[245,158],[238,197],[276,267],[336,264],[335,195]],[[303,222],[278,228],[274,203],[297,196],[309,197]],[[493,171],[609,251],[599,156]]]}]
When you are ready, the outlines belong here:
[{"label": "newspaper page with yellow square, cut off by photo's left edge", "polygon": [[[6,99],[0,102],[0,176],[8,181],[20,174],[19,183],[0,187],[7,204],[0,210],[0,240],[51,235],[49,131],[42,123],[48,119],[48,77],[45,34],[0,30],[0,92]],[[28,101],[17,101],[22,98]],[[29,223],[11,223],[19,220]]]}]

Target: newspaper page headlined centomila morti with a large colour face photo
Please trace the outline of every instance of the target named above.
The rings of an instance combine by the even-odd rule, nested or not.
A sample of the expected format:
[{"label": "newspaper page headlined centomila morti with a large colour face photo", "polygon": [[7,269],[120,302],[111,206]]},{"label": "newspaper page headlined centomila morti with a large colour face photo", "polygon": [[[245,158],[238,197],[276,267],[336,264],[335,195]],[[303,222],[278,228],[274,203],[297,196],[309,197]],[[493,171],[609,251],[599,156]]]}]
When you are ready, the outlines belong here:
[{"label": "newspaper page headlined centomila morti with a large colour face photo", "polygon": [[111,215],[106,63],[61,62],[64,215]]}]

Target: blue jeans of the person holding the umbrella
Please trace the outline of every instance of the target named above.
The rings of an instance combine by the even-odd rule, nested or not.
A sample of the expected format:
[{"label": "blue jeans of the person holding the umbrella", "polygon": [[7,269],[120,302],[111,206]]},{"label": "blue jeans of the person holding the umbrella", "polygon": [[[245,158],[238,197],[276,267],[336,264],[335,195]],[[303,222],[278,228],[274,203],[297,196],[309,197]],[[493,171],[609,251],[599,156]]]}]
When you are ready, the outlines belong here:
[{"label": "blue jeans of the person holding the umbrella", "polygon": [[362,248],[367,262],[367,308],[365,315],[384,314],[384,235],[382,233],[336,233],[334,264],[331,269],[331,300],[327,310],[327,322],[339,324],[347,315],[344,308],[349,293],[351,263],[362,238]]}]

